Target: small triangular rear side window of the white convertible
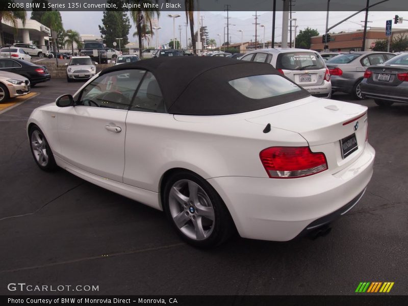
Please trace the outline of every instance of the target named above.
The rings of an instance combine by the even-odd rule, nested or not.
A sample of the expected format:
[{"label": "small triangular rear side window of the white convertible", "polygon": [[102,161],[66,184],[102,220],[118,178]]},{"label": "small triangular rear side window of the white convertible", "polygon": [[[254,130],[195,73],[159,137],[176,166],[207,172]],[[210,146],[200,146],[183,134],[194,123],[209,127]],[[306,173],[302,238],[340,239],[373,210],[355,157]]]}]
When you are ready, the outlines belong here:
[{"label": "small triangular rear side window of the white convertible", "polygon": [[164,99],[159,83],[151,72],[146,72],[142,84],[132,102],[131,111],[165,113]]}]

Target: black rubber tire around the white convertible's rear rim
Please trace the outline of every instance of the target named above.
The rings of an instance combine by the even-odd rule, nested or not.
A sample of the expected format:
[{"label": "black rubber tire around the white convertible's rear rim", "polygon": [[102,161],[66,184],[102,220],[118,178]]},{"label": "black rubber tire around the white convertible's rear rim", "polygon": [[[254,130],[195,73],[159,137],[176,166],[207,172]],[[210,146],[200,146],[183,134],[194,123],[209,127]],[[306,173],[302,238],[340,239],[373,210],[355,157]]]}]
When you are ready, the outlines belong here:
[{"label": "black rubber tire around the white convertible's rear rim", "polygon": [[[203,198],[205,198],[206,196],[208,197],[208,199],[210,200],[209,206],[212,207],[212,212],[214,214],[214,221],[210,221],[210,219],[207,219],[205,216],[200,216],[199,211],[201,210],[201,207],[199,206],[195,207],[195,205],[193,205],[192,202],[189,203],[185,202],[183,203],[184,204],[183,206],[179,201],[175,200],[174,198],[173,199],[170,198],[170,191],[173,188],[173,186],[175,186],[175,184],[179,184],[180,182],[185,181],[197,184],[198,187],[201,188],[201,191],[204,192],[204,193],[200,191],[197,192],[197,195],[199,195],[197,196],[197,199],[199,199],[199,205],[201,207],[208,206],[208,204],[203,205],[203,202],[205,202],[205,200],[203,201]],[[185,189],[184,191],[182,191],[182,189],[179,189],[179,191],[181,193],[183,192],[186,194],[188,193],[190,196],[189,190],[187,189]],[[174,204],[174,201],[176,202],[176,204]],[[225,242],[228,238],[230,238],[231,235],[235,232],[234,222],[232,220],[230,212],[228,212],[221,197],[206,180],[202,179],[202,177],[193,172],[185,170],[182,172],[177,172],[173,174],[171,177],[169,177],[169,179],[165,182],[162,202],[164,212],[166,213],[167,218],[169,219],[171,225],[174,227],[177,234],[179,234],[184,241],[195,247],[211,248],[220,245],[223,242]],[[173,202],[173,204],[170,204],[171,202]],[[174,211],[174,207],[177,206],[177,204],[180,204],[180,212]],[[191,206],[195,207],[195,211],[193,209],[194,212],[191,212],[190,210]],[[194,238],[192,239],[188,237],[188,235],[182,232],[181,228],[179,228],[175,224],[173,215],[176,215],[177,213],[183,213],[186,215],[188,215],[189,213],[191,214],[191,216],[189,215],[189,217],[187,217],[187,219],[188,218],[190,219],[188,221],[185,221],[186,223],[184,224],[184,226],[182,226],[182,228],[184,229],[186,228],[186,226],[190,226],[190,228],[195,228],[195,225],[193,224],[193,219],[196,220],[195,215],[197,215],[196,217],[197,221],[198,217],[200,218],[200,222],[199,223],[197,222],[197,224],[200,224],[202,228],[203,227],[208,228],[207,229],[208,237],[205,237],[204,239],[201,240],[197,240]],[[204,225],[205,223],[211,224]]]}]

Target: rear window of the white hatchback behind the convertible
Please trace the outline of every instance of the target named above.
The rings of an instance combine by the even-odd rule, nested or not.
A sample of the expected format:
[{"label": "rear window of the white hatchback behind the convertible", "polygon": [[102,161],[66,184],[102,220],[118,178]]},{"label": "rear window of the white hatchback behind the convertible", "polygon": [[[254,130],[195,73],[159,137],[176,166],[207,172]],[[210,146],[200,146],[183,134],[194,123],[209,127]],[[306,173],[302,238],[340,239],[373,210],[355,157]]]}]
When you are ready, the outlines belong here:
[{"label": "rear window of the white hatchback behind the convertible", "polygon": [[281,53],[276,59],[276,69],[317,70],[325,67],[321,56],[313,52]]}]

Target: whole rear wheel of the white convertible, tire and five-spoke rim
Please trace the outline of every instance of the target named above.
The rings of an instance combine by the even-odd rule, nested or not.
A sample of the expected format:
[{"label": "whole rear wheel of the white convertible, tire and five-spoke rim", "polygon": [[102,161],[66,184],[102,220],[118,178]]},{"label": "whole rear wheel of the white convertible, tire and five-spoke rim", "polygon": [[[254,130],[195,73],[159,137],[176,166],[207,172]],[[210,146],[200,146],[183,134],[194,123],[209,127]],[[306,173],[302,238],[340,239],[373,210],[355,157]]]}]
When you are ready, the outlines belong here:
[{"label": "whole rear wheel of the white convertible, tire and five-spoke rim", "polygon": [[193,172],[176,173],[167,181],[163,209],[182,239],[196,247],[217,246],[234,232],[221,197]]}]

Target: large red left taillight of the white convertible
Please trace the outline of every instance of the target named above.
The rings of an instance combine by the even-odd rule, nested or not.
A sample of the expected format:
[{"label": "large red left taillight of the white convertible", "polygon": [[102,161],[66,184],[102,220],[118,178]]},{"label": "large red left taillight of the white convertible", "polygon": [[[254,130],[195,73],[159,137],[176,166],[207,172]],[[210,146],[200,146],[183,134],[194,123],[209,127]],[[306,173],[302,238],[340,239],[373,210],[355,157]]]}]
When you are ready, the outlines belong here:
[{"label": "large red left taillight of the white convertible", "polygon": [[327,170],[324,154],[314,153],[309,147],[270,147],[259,156],[273,179],[294,179]]}]

